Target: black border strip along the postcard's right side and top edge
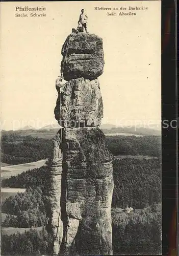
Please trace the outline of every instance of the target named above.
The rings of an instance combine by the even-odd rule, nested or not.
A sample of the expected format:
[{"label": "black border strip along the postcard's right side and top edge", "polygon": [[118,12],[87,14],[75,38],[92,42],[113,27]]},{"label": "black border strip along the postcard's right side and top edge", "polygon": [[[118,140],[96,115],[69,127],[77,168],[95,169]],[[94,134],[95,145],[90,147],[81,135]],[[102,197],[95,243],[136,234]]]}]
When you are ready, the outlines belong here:
[{"label": "black border strip along the postcard's right side and top edge", "polygon": [[[87,0],[89,2],[94,2]],[[128,1],[118,0],[115,2]],[[135,0],[140,1],[140,0]],[[146,0],[143,0],[146,1]],[[148,0],[155,1],[155,0]],[[27,2],[8,1],[1,2]],[[64,2],[62,1],[28,1],[28,2]],[[75,2],[75,1],[65,1]],[[84,2],[84,1],[82,1]],[[95,1],[101,2],[101,0]],[[110,1],[109,1],[110,2]],[[177,112],[177,24],[176,0],[162,2],[162,255],[178,254],[178,112]],[[163,122],[169,125],[166,129]],[[160,254],[161,255],[161,254]]]}]

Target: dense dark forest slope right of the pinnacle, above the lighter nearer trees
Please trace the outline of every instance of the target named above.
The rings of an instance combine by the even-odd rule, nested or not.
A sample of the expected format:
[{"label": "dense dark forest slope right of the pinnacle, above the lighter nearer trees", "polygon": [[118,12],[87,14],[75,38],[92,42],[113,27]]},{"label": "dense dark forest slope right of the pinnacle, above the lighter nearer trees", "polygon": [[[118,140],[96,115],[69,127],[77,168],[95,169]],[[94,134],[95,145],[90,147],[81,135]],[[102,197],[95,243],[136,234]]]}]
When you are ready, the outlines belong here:
[{"label": "dense dark forest slope right of the pinnacle, above the lighter nearer trees", "polygon": [[161,164],[158,159],[113,161],[112,207],[143,209],[161,202]]}]

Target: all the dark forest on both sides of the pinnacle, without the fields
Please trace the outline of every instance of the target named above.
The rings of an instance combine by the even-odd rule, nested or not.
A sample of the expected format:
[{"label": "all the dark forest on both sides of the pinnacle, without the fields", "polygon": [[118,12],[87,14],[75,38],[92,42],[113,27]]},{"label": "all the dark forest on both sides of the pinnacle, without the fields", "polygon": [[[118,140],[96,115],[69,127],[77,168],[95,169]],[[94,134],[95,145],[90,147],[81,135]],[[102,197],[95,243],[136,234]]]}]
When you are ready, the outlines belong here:
[{"label": "all the dark forest on both sides of the pinnacle, without the fields", "polygon": [[[161,138],[159,136],[106,136],[114,156],[146,155],[157,159],[114,159],[112,229],[114,254],[158,253],[161,247]],[[18,134],[2,136],[2,162],[19,164],[49,157],[52,140]],[[48,166],[48,165],[47,165]],[[7,198],[4,227],[40,227],[46,224],[44,187],[49,168],[42,166],[2,180],[2,187],[26,188]],[[126,214],[126,206],[133,214]],[[42,231],[2,236],[2,255],[50,255],[52,237]]]}]

